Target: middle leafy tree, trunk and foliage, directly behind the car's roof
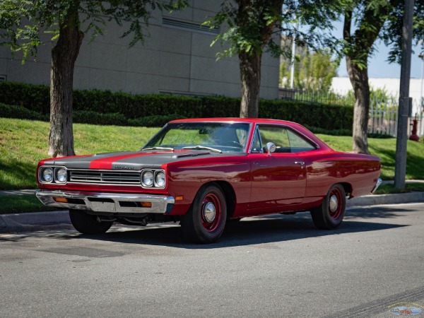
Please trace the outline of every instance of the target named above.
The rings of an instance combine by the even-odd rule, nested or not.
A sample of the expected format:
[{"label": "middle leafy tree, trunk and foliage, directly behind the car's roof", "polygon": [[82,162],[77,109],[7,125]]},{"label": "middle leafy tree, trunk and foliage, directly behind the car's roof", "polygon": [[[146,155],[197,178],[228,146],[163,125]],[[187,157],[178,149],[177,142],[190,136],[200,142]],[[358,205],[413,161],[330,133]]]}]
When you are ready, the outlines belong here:
[{"label": "middle leafy tree, trunk and foliage, directly behind the car's roof", "polygon": [[[240,117],[258,116],[262,54],[267,49],[275,57],[290,54],[276,43],[281,33],[288,37],[301,35],[308,45],[322,45],[326,40],[315,29],[318,26],[330,28],[339,6],[334,0],[223,1],[220,11],[205,24],[212,28],[223,27],[212,43],[220,42],[226,47],[218,54],[218,59],[238,56],[242,83]],[[295,20],[311,25],[310,30],[304,33],[293,30]]]}]

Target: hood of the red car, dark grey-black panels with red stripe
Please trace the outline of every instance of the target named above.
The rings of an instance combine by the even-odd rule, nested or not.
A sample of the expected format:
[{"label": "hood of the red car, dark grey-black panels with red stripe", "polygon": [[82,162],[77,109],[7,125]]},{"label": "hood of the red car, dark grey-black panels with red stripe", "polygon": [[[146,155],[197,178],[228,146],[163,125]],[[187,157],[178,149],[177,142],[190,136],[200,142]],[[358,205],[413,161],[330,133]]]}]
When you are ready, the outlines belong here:
[{"label": "hood of the red car, dark grey-black panels with red stripe", "polygon": [[182,160],[196,160],[223,155],[242,155],[242,153],[212,153],[210,151],[136,151],[120,153],[101,153],[98,155],[52,158],[45,165],[64,166],[69,169],[101,170],[141,170],[159,168],[165,163]]}]

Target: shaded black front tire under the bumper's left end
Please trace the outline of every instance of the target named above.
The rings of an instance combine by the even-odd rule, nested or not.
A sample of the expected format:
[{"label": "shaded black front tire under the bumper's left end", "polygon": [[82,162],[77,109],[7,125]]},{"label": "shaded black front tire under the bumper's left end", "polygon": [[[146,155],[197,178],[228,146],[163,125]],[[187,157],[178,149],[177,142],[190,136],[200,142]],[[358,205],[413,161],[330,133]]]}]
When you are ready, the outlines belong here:
[{"label": "shaded black front tire under the bumper's left end", "polygon": [[110,229],[113,221],[99,221],[97,216],[90,216],[90,214],[82,210],[69,209],[69,218],[73,227],[83,234],[102,234]]}]

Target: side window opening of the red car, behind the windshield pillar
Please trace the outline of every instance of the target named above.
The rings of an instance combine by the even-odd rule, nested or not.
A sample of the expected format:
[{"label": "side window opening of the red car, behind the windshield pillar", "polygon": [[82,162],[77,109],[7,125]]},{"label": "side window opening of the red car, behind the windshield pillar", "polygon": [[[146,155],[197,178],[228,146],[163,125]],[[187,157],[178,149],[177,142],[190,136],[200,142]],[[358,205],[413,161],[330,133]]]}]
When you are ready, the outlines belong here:
[{"label": "side window opening of the red car, behind the windshield pillar", "polygon": [[300,153],[312,151],[315,146],[285,126],[259,126],[262,144],[272,142],[276,153]]}]

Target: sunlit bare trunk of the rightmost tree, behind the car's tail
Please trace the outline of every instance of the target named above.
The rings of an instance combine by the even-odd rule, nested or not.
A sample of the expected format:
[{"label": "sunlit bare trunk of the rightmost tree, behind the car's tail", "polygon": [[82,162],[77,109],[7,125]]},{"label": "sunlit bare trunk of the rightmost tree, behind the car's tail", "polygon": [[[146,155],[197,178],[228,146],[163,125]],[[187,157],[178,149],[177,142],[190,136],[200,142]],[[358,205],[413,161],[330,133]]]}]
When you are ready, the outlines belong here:
[{"label": "sunlit bare trunk of the rightmost tree, behind the car's tail", "polygon": [[355,93],[353,108],[353,152],[368,152],[368,117],[370,112],[370,84],[368,83],[368,69],[360,69],[346,55],[346,66],[349,78]]}]

